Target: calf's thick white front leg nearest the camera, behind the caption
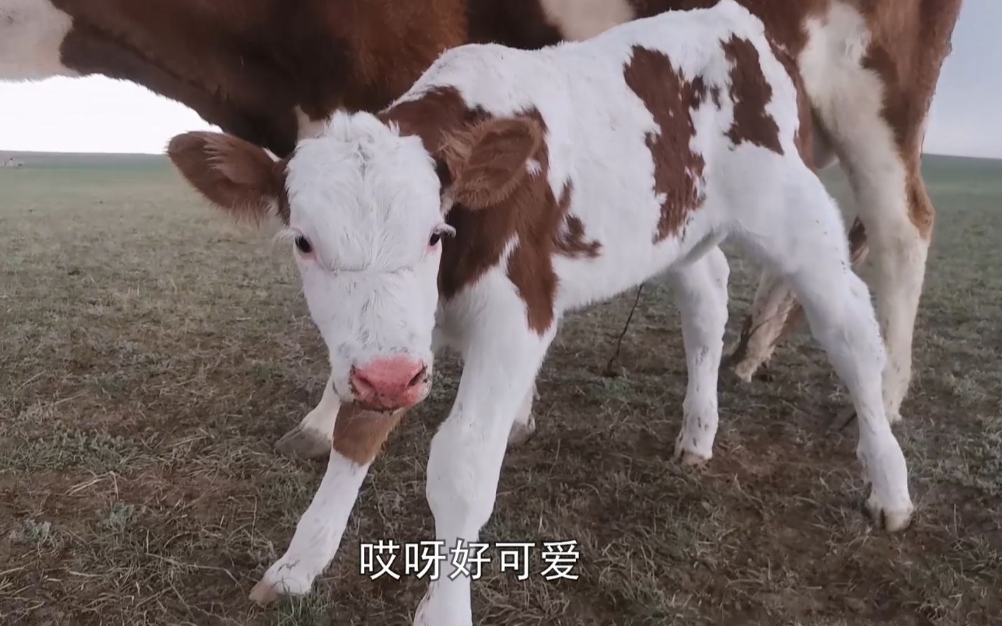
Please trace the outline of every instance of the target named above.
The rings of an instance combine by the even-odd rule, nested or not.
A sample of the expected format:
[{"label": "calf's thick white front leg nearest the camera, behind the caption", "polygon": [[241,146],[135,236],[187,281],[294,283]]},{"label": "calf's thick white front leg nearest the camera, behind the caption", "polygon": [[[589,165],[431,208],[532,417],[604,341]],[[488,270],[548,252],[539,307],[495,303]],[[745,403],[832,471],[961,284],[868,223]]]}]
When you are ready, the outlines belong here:
[{"label": "calf's thick white front leg nearest the camera, behind the caption", "polygon": [[[483,312],[466,326],[471,337],[456,403],[432,440],[428,460],[428,503],[436,537],[448,551],[460,540],[476,542],[490,517],[508,434],[554,334],[551,329],[541,337],[528,328],[525,304],[510,283],[490,287],[490,301],[478,306]],[[473,623],[470,579],[453,578],[457,571],[453,559],[443,562],[415,624]]]}]

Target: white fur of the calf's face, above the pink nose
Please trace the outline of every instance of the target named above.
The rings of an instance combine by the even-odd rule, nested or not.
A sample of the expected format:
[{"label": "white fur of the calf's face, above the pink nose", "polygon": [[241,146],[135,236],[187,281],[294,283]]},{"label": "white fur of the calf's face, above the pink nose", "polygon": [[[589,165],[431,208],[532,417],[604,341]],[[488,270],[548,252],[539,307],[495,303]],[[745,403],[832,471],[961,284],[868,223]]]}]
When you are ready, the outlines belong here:
[{"label": "white fur of the calf's face, above the pink nose", "polygon": [[429,238],[444,218],[421,140],[368,113],[336,114],[300,143],[288,188],[290,230],[314,246],[297,259],[339,396],[352,401],[353,368],[379,357],[405,355],[431,373],[441,244]]}]

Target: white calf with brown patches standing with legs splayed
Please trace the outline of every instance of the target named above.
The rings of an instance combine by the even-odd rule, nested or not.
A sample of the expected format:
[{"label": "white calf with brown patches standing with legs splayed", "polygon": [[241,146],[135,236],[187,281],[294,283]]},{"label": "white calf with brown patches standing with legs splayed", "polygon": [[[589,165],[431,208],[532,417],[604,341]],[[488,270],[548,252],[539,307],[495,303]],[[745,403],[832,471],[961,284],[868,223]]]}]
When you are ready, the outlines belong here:
[{"label": "white calf with brown patches standing with legs splayed", "polygon": [[[447,546],[476,541],[487,521],[506,438],[564,311],[664,271],[681,286],[689,360],[679,450],[711,445],[716,399],[704,390],[716,384],[716,246],[728,236],[796,288],[860,416],[868,508],[905,527],[874,309],[801,155],[808,107],[790,67],[762,22],[725,1],[538,51],[456,48],[380,115],[337,113],[278,162],[222,135],[175,138],[171,157],[202,193],[288,226],[330,350],[330,401],[344,403],[320,490],[252,597],[305,593],[327,567],[379,447],[430,389],[435,343],[464,359],[428,461]],[[471,623],[469,580],[450,567],[416,623]]]}]

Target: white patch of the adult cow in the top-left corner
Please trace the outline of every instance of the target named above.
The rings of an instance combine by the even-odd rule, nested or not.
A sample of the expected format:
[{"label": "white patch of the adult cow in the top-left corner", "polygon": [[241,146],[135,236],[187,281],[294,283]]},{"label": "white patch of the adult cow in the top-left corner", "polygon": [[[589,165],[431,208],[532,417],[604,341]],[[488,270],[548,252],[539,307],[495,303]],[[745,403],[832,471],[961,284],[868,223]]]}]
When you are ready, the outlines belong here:
[{"label": "white patch of the adult cow in the top-left corner", "polygon": [[76,76],[60,53],[72,26],[48,0],[0,0],[0,80]]}]

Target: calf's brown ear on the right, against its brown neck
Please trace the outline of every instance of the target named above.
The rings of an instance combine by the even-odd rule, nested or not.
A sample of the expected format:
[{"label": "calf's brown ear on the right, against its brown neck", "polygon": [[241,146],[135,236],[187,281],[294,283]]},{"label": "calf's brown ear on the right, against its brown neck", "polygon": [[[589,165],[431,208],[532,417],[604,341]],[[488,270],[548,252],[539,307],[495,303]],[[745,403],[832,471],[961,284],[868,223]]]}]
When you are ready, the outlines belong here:
[{"label": "calf's brown ear on the right, against its brown neck", "polygon": [[473,209],[504,202],[542,142],[539,122],[523,116],[488,119],[450,135],[440,156],[452,178],[453,200]]}]

